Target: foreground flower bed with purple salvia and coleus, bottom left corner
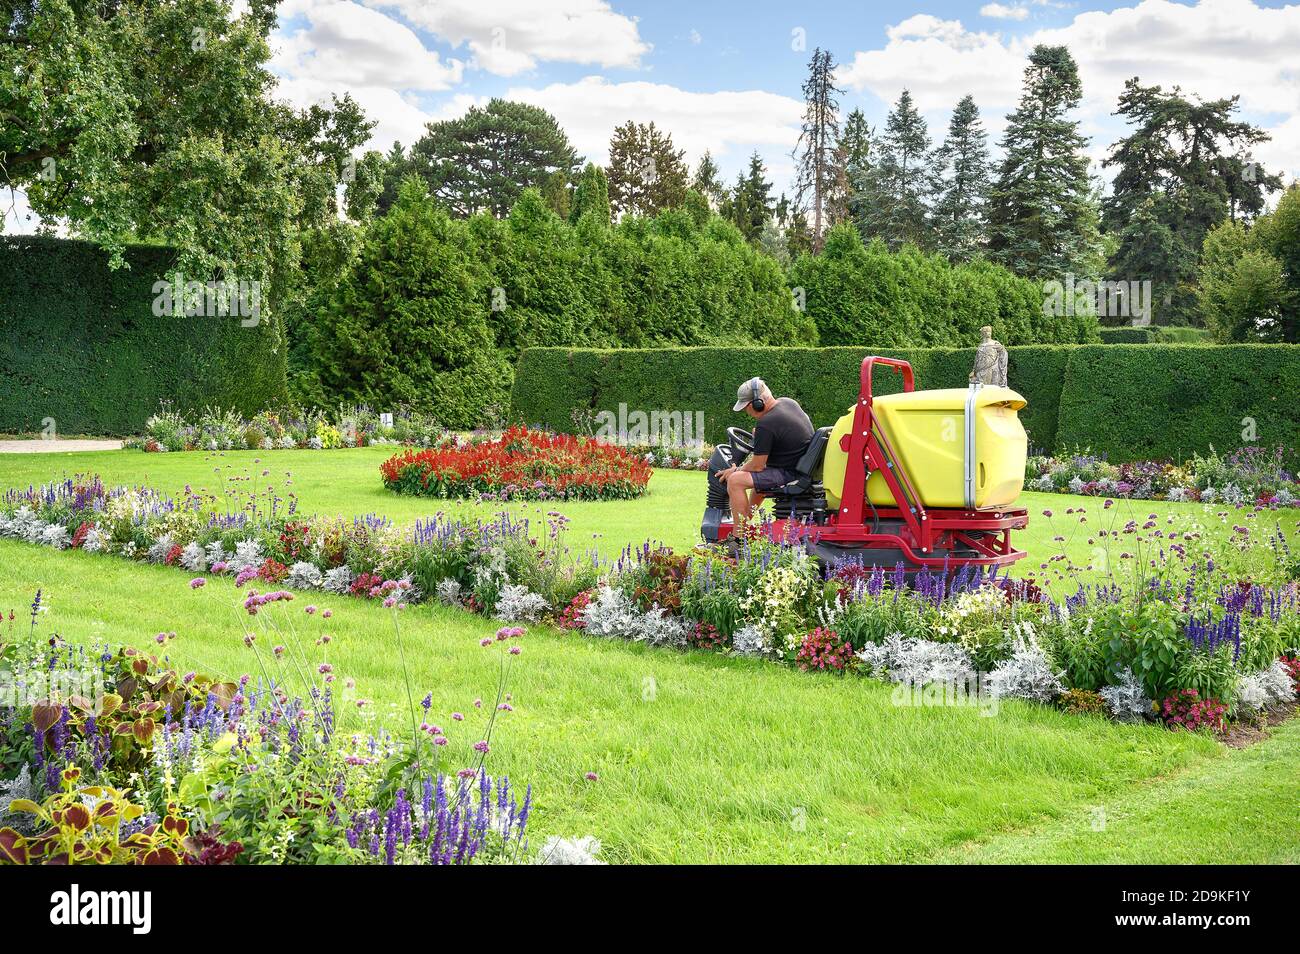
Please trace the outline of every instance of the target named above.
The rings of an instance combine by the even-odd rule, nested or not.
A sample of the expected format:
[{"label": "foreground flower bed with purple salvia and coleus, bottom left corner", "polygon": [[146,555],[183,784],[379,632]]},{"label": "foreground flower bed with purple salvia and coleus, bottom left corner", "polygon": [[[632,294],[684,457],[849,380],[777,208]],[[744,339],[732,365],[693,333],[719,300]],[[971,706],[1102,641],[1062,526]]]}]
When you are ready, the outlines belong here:
[{"label": "foreground flower bed with purple salvia and coleus, bottom left corner", "polygon": [[[0,864],[529,860],[532,790],[485,771],[482,740],[512,707],[442,719],[425,697],[411,701],[424,723],[406,738],[360,716],[350,728],[334,694],[350,680],[326,662],[329,637],[299,632],[312,612],[289,599],[243,637],[257,675],[238,681],[182,672],[169,655],[64,645],[39,632],[39,591],[30,625],[14,632],[10,613]],[[174,639],[157,637],[166,652]]]}]

